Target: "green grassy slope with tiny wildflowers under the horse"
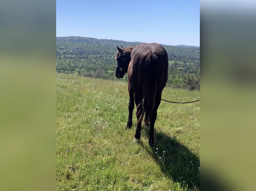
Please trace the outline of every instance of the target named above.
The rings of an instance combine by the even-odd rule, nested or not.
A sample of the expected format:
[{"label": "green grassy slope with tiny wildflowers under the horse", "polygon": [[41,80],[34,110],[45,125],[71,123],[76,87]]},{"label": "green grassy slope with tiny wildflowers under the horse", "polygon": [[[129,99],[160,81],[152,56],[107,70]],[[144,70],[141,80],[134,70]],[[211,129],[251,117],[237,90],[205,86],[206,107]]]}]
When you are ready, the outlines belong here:
[{"label": "green grassy slope with tiny wildflowers under the horse", "polygon": [[[133,143],[127,83],[56,74],[56,190],[198,190],[200,102],[162,101],[155,144],[142,126]],[[193,101],[199,92],[165,88],[162,98]],[[159,158],[161,157],[161,158]]]}]

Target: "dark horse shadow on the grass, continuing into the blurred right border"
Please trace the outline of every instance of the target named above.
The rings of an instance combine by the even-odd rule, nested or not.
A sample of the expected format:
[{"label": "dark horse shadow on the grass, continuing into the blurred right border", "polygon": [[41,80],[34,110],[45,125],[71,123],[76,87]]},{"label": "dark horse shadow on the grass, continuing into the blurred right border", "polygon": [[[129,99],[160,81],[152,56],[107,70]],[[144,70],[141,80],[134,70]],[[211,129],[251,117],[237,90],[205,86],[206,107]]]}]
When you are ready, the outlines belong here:
[{"label": "dark horse shadow on the grass, continuing into the blurred right border", "polygon": [[[149,126],[143,126],[141,133],[149,137]],[[189,190],[200,189],[200,159],[186,146],[182,145],[175,137],[169,137],[162,132],[154,132],[155,143],[152,147],[148,142],[140,141],[139,144],[160,166],[166,178],[179,182],[181,188]],[[160,158],[161,157],[161,158]],[[204,171],[207,173],[206,171]],[[205,174],[204,173],[204,174]],[[210,176],[209,176],[210,175]],[[210,172],[202,178],[206,190],[230,190],[229,186]],[[202,189],[201,185],[201,189]]]}]

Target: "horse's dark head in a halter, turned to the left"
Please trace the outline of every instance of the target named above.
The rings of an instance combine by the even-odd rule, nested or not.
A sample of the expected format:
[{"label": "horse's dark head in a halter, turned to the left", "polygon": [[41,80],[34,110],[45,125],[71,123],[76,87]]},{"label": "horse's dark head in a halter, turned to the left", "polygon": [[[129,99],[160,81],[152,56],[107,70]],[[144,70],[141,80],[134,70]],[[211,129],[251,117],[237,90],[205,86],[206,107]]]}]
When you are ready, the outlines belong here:
[{"label": "horse's dark head in a halter, turned to the left", "polygon": [[125,49],[121,46],[121,48],[117,47],[117,53],[115,59],[117,60],[116,73],[115,76],[117,78],[123,78],[124,74],[128,71],[128,66],[131,61],[130,52],[125,51]]}]

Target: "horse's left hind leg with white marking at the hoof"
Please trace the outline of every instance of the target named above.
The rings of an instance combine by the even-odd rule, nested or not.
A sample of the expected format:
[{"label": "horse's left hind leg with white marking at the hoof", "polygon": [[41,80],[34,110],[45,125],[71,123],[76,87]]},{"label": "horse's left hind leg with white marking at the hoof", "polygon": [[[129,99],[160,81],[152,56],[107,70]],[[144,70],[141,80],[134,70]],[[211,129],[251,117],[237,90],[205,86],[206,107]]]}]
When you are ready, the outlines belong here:
[{"label": "horse's left hind leg with white marking at the hoof", "polygon": [[142,111],[142,95],[135,95],[135,104],[137,106],[136,110],[136,117],[137,117],[137,127],[134,135],[133,141],[138,142],[140,140],[140,130],[141,130],[141,123],[143,120],[144,113]]}]

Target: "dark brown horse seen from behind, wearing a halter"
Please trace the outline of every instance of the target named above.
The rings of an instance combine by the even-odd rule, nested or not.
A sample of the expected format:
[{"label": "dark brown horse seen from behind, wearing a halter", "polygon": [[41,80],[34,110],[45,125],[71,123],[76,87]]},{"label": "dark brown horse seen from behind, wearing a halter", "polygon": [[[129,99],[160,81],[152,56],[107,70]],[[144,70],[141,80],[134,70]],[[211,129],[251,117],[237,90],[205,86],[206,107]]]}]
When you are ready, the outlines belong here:
[{"label": "dark brown horse seen from behind, wearing a halter", "polygon": [[157,43],[142,43],[127,48],[117,47],[115,59],[117,67],[115,76],[128,76],[129,116],[127,128],[132,126],[134,102],[136,104],[137,125],[133,141],[140,140],[141,124],[144,117],[145,125],[150,125],[148,144],[154,140],[154,125],[157,108],[161,102],[162,91],[168,79],[168,55],[166,50]]}]

